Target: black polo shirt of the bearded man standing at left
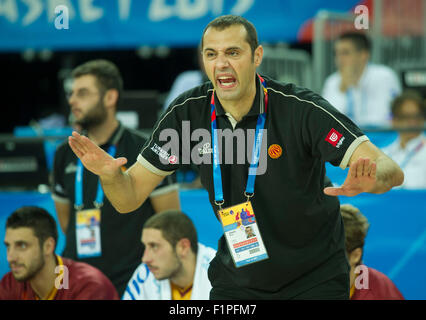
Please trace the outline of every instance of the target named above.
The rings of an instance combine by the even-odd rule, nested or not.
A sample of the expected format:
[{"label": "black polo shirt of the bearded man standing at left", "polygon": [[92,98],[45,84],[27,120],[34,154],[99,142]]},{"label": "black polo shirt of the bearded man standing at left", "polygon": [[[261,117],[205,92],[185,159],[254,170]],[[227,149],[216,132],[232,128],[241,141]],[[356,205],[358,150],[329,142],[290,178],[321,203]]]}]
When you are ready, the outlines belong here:
[{"label": "black polo shirt of the bearded man standing at left", "polygon": [[[136,161],[146,140],[146,136],[120,124],[109,141],[101,148],[107,151],[112,143],[116,144],[115,157],[126,157],[128,160],[126,167],[129,168]],[[76,249],[76,214],[74,210],[76,170],[77,157],[66,141],[58,147],[55,153],[52,187],[54,201],[69,203],[71,207],[70,220],[66,230],[66,244],[62,255],[73,260],[87,262],[100,269],[111,279],[121,296],[128,280],[141,262],[143,254],[142,226],[155,213],[154,209],[151,201],[146,201],[134,212],[120,214],[114,209],[107,197],[104,197],[104,205],[101,208],[102,255],[79,259]],[[177,188],[174,179],[173,175],[163,180],[150,197]],[[93,201],[96,197],[98,181],[98,176],[86,169],[83,170],[85,209],[94,208]]]}]

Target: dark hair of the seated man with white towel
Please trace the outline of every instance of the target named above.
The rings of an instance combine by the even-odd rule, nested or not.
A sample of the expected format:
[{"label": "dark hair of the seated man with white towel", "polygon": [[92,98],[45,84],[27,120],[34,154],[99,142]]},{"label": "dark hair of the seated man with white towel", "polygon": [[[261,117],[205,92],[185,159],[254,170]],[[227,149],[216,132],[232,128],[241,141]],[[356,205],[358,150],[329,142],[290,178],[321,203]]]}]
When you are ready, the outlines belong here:
[{"label": "dark hair of the seated man with white towel", "polygon": [[191,219],[181,211],[168,210],[156,213],[145,222],[143,228],[160,230],[164,239],[173,248],[181,239],[186,238],[191,242],[192,251],[197,254],[197,230]]}]

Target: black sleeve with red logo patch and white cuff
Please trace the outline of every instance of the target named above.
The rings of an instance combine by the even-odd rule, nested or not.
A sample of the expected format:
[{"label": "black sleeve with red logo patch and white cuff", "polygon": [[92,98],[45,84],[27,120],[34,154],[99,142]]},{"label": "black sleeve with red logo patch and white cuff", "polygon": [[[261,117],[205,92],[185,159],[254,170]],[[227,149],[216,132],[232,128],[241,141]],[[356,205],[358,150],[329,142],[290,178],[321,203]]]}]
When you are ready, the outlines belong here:
[{"label": "black sleeve with red logo patch and white cuff", "polygon": [[[319,96],[317,96],[319,97]],[[345,169],[355,149],[368,137],[325,99],[306,101],[302,130],[305,147],[314,157]]]}]

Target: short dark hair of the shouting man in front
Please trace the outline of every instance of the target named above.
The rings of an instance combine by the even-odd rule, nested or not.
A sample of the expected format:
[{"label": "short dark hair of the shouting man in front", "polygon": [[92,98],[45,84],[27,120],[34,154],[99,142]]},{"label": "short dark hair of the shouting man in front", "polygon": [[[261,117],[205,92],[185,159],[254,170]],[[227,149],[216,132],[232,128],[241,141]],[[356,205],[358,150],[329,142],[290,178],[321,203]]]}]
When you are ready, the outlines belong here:
[{"label": "short dark hair of the shouting man in front", "polygon": [[232,15],[232,14],[217,17],[204,28],[203,36],[201,37],[201,50],[203,49],[204,34],[206,33],[208,28],[211,27],[217,30],[224,30],[234,25],[242,25],[246,29],[246,32],[247,32],[246,41],[250,45],[251,53],[254,54],[254,51],[259,46],[256,28],[247,19],[241,16]]}]

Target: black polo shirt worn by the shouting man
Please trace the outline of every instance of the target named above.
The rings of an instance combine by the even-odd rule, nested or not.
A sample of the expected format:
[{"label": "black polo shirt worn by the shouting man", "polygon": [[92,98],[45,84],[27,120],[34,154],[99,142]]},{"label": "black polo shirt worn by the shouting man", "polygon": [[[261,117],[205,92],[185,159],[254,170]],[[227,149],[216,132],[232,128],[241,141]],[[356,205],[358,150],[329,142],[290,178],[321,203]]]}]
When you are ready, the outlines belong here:
[{"label": "black polo shirt worn by the shouting man", "polygon": [[[256,177],[251,201],[269,259],[236,268],[222,236],[209,277],[213,287],[237,286],[251,292],[253,298],[291,298],[316,284],[348,273],[339,200],[323,192],[328,180],[325,162],[345,168],[356,147],[368,138],[314,92],[293,84],[265,80],[269,103],[267,132],[263,136],[266,144],[261,154],[267,159],[267,167],[264,174]],[[260,86],[256,80],[253,106],[238,123],[225,113],[215,97],[217,128],[234,132],[241,128],[249,135],[248,129],[255,129],[258,115],[264,108]],[[199,165],[201,181],[216,212],[211,150],[209,153],[209,145],[206,145],[210,141],[200,142],[200,138],[200,141],[191,141],[188,147],[187,129],[184,129],[187,123],[183,122],[190,121],[191,132],[204,128],[211,136],[212,92],[211,83],[205,83],[178,97],[154,126],[138,161],[157,174],[167,175],[179,168],[182,162],[179,160],[185,157],[183,152],[188,152],[189,148],[199,152],[203,149],[200,146],[204,147],[201,152],[209,154],[210,161]],[[171,132],[171,128],[183,136],[177,154],[173,154],[173,149],[165,150],[169,141],[160,141],[160,133]],[[224,207],[246,200],[244,191],[251,158],[246,156],[244,163],[238,163],[241,143],[235,138],[232,149],[219,147],[222,159],[226,159],[227,153],[234,153],[234,164],[221,165]],[[174,146],[174,150],[176,148]],[[252,144],[247,148],[251,150]],[[278,156],[280,148],[282,154]],[[169,159],[169,163],[165,159]]]}]

